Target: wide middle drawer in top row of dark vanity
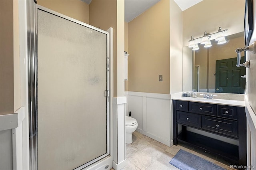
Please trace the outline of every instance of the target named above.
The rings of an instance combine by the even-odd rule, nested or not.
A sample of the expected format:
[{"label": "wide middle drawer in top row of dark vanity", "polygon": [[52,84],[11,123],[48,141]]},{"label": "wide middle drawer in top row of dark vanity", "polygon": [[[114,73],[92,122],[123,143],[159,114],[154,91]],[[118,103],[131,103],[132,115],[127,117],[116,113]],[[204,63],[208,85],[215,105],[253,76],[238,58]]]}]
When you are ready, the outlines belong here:
[{"label": "wide middle drawer in top row of dark vanity", "polygon": [[214,104],[189,102],[188,108],[192,113],[217,116],[217,105]]}]

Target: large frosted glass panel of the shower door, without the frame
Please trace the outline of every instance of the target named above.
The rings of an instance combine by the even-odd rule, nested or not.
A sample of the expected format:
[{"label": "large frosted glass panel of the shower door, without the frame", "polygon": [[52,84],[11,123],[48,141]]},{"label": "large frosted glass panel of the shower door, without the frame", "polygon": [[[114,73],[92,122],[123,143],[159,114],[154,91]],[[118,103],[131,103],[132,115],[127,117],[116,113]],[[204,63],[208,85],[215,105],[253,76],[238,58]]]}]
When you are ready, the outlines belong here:
[{"label": "large frosted glass panel of the shower door, without the frame", "polygon": [[107,154],[107,35],[38,10],[38,170]]}]

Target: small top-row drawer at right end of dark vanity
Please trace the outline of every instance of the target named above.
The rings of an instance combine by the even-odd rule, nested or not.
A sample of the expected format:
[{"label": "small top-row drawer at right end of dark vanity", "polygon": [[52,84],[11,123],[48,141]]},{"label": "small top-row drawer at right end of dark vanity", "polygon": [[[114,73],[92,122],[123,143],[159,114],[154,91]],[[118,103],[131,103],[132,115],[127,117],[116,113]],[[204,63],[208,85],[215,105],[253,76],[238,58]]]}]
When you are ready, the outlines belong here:
[{"label": "small top-row drawer at right end of dark vanity", "polygon": [[218,105],[218,117],[237,120],[237,107]]}]

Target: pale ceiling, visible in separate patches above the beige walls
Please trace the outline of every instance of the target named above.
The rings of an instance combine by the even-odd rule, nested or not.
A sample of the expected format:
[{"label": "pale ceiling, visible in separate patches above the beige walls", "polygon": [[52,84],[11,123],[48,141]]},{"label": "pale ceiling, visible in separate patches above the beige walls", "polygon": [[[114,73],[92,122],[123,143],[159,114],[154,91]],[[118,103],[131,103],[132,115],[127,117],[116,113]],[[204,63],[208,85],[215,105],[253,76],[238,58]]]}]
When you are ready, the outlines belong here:
[{"label": "pale ceiling, visible in separate patches above the beige walls", "polygon": [[[82,0],[86,4],[90,4],[92,0]],[[148,8],[154,6],[160,0],[125,0],[124,1],[124,21],[130,22]],[[174,0],[182,11],[201,2],[202,0]]]}]

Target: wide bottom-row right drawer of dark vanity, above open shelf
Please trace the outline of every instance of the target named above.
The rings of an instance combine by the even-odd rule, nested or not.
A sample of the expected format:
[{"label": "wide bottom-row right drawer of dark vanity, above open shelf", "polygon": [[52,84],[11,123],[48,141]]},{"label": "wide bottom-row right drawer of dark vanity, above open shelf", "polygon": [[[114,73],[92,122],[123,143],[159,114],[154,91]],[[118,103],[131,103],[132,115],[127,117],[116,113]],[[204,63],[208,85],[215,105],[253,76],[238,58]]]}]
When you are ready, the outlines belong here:
[{"label": "wide bottom-row right drawer of dark vanity, above open shelf", "polygon": [[237,121],[202,116],[202,128],[232,137],[238,137]]}]

